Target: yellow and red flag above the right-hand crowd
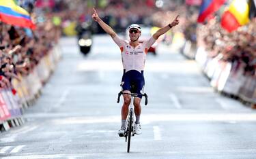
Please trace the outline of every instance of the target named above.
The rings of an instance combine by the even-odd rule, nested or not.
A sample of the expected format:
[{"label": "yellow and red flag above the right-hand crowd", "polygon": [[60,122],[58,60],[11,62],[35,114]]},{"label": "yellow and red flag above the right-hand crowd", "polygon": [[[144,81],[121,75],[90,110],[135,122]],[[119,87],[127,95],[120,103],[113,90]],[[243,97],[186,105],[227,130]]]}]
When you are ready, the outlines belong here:
[{"label": "yellow and red flag above the right-hand crowd", "polygon": [[249,6],[246,1],[233,0],[221,18],[221,26],[231,33],[250,21],[248,14]]}]

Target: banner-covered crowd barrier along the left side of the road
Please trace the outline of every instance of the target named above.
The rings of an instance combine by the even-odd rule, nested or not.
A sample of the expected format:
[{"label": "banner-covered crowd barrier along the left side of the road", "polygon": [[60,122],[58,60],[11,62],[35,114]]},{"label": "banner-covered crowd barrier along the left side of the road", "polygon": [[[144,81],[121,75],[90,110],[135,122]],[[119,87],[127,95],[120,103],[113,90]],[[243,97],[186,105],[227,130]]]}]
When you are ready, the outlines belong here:
[{"label": "banner-covered crowd barrier along the left side of the road", "polygon": [[40,96],[42,86],[48,81],[61,58],[59,50],[59,46],[56,45],[29,75],[18,74],[20,80],[12,79],[14,89],[0,90],[1,131],[24,123],[23,110],[33,105]]}]

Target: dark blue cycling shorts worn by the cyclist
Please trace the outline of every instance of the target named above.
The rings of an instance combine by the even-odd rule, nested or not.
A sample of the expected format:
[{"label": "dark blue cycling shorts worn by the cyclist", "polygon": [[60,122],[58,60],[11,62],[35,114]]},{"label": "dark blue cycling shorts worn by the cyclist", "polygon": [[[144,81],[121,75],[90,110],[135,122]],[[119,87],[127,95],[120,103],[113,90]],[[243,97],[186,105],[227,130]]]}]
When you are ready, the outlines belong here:
[{"label": "dark blue cycling shorts worn by the cyclist", "polygon": [[[142,98],[143,89],[145,85],[145,79],[143,71],[139,72],[137,70],[125,71],[122,77],[122,91],[129,90],[132,93],[139,94],[138,97]],[[131,86],[134,86],[134,90],[131,90]]]}]

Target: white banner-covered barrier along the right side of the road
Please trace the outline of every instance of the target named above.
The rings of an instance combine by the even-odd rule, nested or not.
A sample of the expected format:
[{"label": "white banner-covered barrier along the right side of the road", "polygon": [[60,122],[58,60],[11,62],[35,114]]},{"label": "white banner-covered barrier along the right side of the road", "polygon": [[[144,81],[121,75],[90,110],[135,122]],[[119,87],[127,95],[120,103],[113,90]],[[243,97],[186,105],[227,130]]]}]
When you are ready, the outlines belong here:
[{"label": "white banner-covered barrier along the right side of the road", "polygon": [[210,79],[210,84],[218,92],[240,99],[243,103],[256,104],[256,77],[244,72],[243,63],[230,63],[221,60],[221,54],[211,58],[203,48],[197,48],[195,60],[203,73]]}]

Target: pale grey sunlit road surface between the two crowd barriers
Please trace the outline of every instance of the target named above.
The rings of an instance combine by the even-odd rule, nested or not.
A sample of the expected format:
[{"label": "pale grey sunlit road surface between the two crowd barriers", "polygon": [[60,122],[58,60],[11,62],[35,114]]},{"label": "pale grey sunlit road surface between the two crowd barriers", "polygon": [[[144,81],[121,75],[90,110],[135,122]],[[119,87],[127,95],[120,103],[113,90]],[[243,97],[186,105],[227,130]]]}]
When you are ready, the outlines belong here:
[{"label": "pale grey sunlit road surface between the two crowd barriers", "polygon": [[143,133],[126,153],[117,136],[119,48],[106,35],[94,37],[87,57],[75,38],[61,46],[63,58],[25,111],[27,122],[0,134],[2,158],[256,158],[256,112],[216,94],[193,60],[165,45],[147,56]]}]

